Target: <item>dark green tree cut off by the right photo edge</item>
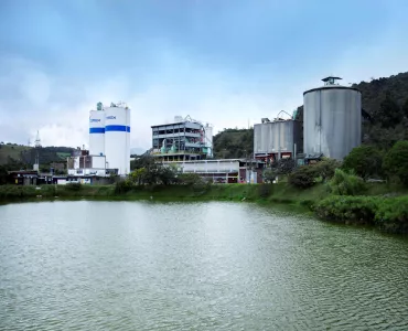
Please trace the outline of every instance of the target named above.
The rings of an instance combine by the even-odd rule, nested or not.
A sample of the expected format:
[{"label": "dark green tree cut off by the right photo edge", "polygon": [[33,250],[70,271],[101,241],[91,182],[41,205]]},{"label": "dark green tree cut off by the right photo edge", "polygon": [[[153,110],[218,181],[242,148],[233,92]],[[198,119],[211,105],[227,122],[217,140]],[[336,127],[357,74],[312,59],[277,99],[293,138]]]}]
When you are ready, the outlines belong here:
[{"label": "dark green tree cut off by the right photo edge", "polygon": [[384,171],[408,186],[408,141],[398,141],[384,158]]}]

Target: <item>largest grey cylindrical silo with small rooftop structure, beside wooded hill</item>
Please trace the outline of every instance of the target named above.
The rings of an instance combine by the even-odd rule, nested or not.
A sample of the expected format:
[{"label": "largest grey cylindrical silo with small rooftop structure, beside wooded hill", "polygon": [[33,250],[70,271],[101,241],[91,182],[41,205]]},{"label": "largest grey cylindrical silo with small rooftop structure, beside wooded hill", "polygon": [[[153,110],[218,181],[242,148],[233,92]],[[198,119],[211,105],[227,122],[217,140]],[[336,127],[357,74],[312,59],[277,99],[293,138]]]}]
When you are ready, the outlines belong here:
[{"label": "largest grey cylindrical silo with small rooftop structure, beside wooded hill", "polygon": [[324,86],[303,93],[303,147],[307,156],[343,160],[362,143],[362,94],[326,77]]}]

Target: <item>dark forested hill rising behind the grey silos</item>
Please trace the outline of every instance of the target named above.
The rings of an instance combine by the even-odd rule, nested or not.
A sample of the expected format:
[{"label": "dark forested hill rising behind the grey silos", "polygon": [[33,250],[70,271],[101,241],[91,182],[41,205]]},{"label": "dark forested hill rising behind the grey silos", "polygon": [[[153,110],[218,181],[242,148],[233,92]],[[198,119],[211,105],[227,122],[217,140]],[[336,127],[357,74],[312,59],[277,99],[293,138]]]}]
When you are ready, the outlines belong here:
[{"label": "dark forested hill rising behind the grey silos", "polygon": [[[365,142],[387,149],[397,140],[408,139],[408,72],[352,86],[362,92],[363,108],[373,118],[373,124],[364,127]],[[303,106],[298,108],[297,118],[303,118]],[[253,128],[224,129],[214,136],[214,154],[245,158],[254,151],[253,137]]]}]

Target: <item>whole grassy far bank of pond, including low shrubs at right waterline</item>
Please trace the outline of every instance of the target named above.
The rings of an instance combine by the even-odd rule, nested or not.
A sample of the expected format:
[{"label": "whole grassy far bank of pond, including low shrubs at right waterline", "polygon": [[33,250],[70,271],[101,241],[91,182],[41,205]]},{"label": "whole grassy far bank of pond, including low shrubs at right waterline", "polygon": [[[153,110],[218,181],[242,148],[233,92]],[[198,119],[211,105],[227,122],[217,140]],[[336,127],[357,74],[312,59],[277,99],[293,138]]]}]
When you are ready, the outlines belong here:
[{"label": "whole grassy far bank of pond, including low shrubs at right waterline", "polygon": [[[393,194],[390,194],[393,193]],[[284,203],[313,212],[319,218],[344,224],[376,226],[384,232],[408,233],[408,195],[406,189],[387,184],[368,184],[365,195],[331,195],[324,184],[307,190],[288,183],[130,186],[43,185],[0,186],[0,201],[39,199],[159,200],[159,201],[248,201],[262,204]]]}]

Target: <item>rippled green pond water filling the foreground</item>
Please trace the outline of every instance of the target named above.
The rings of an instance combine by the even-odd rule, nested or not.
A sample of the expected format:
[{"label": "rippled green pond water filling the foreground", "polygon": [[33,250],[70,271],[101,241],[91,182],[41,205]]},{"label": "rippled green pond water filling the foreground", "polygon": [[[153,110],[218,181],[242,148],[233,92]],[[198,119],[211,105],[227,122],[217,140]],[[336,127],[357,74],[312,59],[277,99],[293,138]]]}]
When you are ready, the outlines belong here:
[{"label": "rippled green pond water filling the foreground", "polygon": [[0,330],[408,330],[408,241],[249,203],[2,205]]}]

